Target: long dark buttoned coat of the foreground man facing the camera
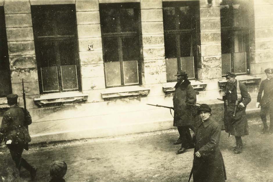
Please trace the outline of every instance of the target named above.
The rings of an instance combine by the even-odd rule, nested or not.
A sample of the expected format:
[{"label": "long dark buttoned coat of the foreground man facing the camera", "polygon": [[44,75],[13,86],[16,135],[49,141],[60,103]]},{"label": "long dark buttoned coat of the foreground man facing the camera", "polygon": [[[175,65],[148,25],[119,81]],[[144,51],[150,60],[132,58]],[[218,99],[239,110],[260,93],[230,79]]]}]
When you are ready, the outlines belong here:
[{"label": "long dark buttoned coat of the foreground man facing the camera", "polygon": [[201,122],[196,131],[194,152],[193,181],[194,182],[223,182],[226,179],[224,160],[218,148],[221,127],[211,117]]}]

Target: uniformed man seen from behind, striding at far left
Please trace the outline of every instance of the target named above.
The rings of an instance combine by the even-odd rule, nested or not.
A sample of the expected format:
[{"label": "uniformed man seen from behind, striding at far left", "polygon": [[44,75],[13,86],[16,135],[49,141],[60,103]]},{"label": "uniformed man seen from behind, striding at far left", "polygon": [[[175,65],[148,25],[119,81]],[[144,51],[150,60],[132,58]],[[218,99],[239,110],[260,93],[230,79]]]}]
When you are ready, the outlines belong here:
[{"label": "uniformed man seen from behind, striding at far left", "polygon": [[30,172],[31,180],[34,180],[37,168],[30,166],[22,158],[23,150],[28,150],[28,142],[31,140],[27,128],[32,120],[28,111],[26,111],[25,117],[24,108],[17,105],[17,98],[18,95],[16,94],[9,94],[7,96],[10,108],[3,115],[0,127],[0,143],[3,140],[5,141],[16,168],[20,171],[21,167],[24,167]]}]

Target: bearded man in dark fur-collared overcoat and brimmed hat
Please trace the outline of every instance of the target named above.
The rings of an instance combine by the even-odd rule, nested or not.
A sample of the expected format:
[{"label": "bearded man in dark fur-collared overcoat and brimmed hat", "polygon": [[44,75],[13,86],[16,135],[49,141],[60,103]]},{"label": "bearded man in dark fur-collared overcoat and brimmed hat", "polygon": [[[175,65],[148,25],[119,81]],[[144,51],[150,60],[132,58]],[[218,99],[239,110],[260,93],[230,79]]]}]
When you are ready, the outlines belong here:
[{"label": "bearded man in dark fur-collared overcoat and brimmed hat", "polygon": [[193,129],[192,109],[196,104],[196,93],[184,71],[178,70],[175,93],[173,95],[174,119],[173,126],[177,127],[179,139],[174,144],[181,144],[177,154],[181,154],[188,148],[193,148],[190,129]]}]

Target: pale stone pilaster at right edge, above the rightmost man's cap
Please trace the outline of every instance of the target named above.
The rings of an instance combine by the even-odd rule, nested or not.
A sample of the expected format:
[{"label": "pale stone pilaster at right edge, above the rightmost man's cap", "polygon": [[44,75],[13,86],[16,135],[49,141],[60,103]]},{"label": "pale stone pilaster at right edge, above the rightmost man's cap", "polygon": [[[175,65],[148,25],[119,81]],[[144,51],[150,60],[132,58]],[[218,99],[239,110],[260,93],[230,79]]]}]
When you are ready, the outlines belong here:
[{"label": "pale stone pilaster at right edge, above the rightmost man's cap", "polygon": [[254,1],[255,47],[252,48],[250,73],[264,76],[273,65],[273,1]]}]

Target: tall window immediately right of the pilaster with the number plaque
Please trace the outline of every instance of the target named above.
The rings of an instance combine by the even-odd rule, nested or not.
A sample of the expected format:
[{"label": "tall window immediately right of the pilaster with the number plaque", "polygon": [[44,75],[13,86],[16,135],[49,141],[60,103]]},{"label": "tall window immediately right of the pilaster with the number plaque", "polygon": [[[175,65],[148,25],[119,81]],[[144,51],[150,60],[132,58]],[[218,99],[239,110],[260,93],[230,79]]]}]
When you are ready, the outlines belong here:
[{"label": "tall window immediately right of the pilaster with the number plaque", "polygon": [[139,3],[100,4],[106,87],[140,83]]}]

